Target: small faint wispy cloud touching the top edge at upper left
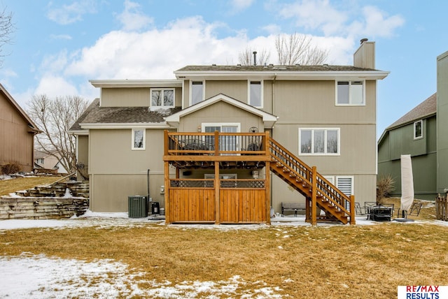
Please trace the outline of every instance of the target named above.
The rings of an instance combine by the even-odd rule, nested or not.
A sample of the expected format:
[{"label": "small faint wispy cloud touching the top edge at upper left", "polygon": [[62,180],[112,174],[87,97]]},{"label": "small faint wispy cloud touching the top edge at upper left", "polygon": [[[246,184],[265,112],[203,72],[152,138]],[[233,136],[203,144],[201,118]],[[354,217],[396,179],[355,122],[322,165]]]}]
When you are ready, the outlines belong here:
[{"label": "small faint wispy cloud touching the top edge at upper left", "polygon": [[[59,4],[59,3],[58,3]],[[83,20],[86,13],[96,13],[96,2],[94,0],[73,1],[71,4],[55,7],[53,2],[48,4],[48,19],[57,24],[66,25]]]}]

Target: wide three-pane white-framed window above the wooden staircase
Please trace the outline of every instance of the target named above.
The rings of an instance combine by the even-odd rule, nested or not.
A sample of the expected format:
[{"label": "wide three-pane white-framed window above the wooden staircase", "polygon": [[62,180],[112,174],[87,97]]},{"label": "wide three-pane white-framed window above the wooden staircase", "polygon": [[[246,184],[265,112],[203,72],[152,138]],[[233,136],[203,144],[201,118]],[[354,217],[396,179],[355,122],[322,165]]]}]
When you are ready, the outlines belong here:
[{"label": "wide three-pane white-framed window above the wooden staircase", "polygon": [[299,129],[300,154],[339,155],[339,129]]}]

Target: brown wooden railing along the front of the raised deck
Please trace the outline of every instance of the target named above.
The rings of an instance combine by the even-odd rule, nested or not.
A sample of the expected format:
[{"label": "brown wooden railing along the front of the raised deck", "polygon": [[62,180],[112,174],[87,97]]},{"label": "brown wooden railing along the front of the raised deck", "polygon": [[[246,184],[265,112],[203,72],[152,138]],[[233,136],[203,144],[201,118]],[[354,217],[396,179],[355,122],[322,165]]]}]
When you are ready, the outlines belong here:
[{"label": "brown wooden railing along the front of the raised deck", "polygon": [[265,133],[166,132],[166,155],[265,155]]}]

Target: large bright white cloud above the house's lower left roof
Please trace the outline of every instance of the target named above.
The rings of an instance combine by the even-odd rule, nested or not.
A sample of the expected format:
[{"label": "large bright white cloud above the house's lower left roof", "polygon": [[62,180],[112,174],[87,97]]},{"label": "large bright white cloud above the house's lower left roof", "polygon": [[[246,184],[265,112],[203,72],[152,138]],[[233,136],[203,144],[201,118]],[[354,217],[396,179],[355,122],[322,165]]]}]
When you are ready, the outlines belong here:
[{"label": "large bright white cloud above the house's lower left roof", "polygon": [[186,64],[227,64],[244,50],[248,38],[240,32],[220,39],[216,36],[219,26],[202,17],[188,17],[164,29],[111,31],[73,55],[65,74],[90,79],[164,79],[174,78],[173,71]]}]

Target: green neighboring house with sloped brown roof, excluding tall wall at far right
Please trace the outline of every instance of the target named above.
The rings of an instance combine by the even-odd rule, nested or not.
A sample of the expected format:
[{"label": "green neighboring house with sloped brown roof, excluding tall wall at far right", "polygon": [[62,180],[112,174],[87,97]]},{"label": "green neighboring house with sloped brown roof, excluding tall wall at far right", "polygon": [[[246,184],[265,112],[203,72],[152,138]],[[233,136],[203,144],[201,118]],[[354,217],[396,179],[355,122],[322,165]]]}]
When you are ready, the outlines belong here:
[{"label": "green neighboring house with sloped brown roof, excluding tall wall at far right", "polygon": [[434,199],[437,194],[437,95],[407,112],[388,126],[378,140],[378,179],[391,175],[395,189],[390,196],[401,196],[402,154],[410,154],[416,198]]}]

